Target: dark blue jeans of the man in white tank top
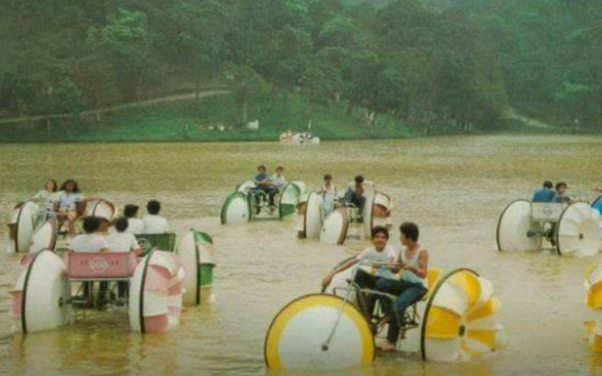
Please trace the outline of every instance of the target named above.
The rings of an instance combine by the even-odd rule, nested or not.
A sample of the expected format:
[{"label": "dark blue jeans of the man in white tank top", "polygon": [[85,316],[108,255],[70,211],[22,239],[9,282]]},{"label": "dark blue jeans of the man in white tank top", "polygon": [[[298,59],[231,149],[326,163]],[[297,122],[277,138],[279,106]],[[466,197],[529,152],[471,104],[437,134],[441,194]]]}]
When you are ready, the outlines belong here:
[{"label": "dark blue jeans of the man in white tank top", "polygon": [[386,340],[394,344],[397,342],[397,337],[399,337],[399,324],[403,322],[406,309],[419,301],[426,294],[427,289],[420,283],[386,278],[377,281],[376,289],[387,294],[399,295],[395,300],[393,309],[383,307],[389,311],[389,331],[386,334]]}]

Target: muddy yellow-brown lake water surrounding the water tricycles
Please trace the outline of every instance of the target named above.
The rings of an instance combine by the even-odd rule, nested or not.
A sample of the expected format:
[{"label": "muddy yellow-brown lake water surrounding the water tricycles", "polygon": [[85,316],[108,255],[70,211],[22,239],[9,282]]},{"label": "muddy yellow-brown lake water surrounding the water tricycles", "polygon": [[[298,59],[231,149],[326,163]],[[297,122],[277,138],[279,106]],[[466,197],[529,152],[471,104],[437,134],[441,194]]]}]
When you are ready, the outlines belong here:
[{"label": "muddy yellow-brown lake water surrounding the water tricycles", "polygon": [[[0,215],[47,177],[76,177],[84,193],[144,205],[157,198],[177,232],[194,226],[216,241],[213,306],[188,307],[170,333],[141,336],[126,321],[76,322],[46,333],[9,334],[18,257],[0,252],[0,374],[265,374],[265,330],[291,299],[315,292],[323,274],[367,244],[295,239],[294,223],[220,226],[220,206],[258,164],[284,165],[312,186],[332,173],[343,188],[358,171],[394,197],[396,223],[416,221],[430,263],[470,267],[502,302],[506,350],[470,363],[424,363],[416,354],[377,358],[341,375],[600,374],[602,356],[583,339],[583,270],[591,259],[495,250],[498,216],[545,179],[583,192],[600,175],[602,138],[441,137],[396,141],[1,145]],[[593,199],[589,197],[589,199]],[[399,233],[394,233],[393,241]],[[6,230],[0,229],[4,250]],[[271,375],[272,373],[270,373]]]}]

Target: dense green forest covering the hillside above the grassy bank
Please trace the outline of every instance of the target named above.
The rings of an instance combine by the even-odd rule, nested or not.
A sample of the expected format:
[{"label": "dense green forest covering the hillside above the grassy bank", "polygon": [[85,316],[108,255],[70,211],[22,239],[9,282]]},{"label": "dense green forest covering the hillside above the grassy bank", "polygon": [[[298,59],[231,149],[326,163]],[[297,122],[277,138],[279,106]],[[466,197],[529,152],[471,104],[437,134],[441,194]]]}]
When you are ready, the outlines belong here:
[{"label": "dense green forest covering the hillside above the grassy bank", "polygon": [[[599,0],[5,0],[0,116],[102,108],[208,82],[459,130],[508,109],[602,129]],[[278,93],[278,94],[277,94]],[[337,103],[338,102],[338,103]]]}]

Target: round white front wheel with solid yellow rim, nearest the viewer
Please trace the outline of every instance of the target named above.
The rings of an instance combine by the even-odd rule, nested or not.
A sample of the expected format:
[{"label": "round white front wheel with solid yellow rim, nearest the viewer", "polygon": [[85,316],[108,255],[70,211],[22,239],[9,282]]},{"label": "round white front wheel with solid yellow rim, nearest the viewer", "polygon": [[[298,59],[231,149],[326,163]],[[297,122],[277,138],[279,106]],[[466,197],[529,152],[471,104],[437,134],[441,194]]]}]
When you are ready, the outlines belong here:
[{"label": "round white front wheel with solid yellow rim, nearest the viewer", "polygon": [[374,360],[370,325],[353,304],[312,294],[284,306],[265,336],[264,359],[273,371],[332,371]]}]

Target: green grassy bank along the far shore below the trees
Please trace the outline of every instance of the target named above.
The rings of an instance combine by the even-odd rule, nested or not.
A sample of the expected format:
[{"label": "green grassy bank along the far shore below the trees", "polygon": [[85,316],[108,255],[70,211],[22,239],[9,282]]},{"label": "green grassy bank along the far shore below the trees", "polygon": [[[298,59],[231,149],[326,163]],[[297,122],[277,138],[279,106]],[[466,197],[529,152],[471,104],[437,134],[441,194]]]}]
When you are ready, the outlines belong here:
[{"label": "green grassy bank along the far shore below the trees", "polygon": [[[8,123],[0,126],[0,142],[57,141],[275,141],[293,129],[304,131],[311,119],[311,132],[323,140],[359,138],[399,138],[418,135],[385,117],[371,127],[364,112],[347,114],[341,105],[316,105],[307,110],[300,96],[281,95],[270,100],[250,102],[248,119],[259,120],[259,130],[238,126],[240,111],[232,94],[195,101],[157,103],[141,108],[125,108],[103,114],[101,121],[92,117],[73,117],[36,122]],[[224,131],[217,130],[223,126]],[[213,128],[213,129],[211,129]]]}]

